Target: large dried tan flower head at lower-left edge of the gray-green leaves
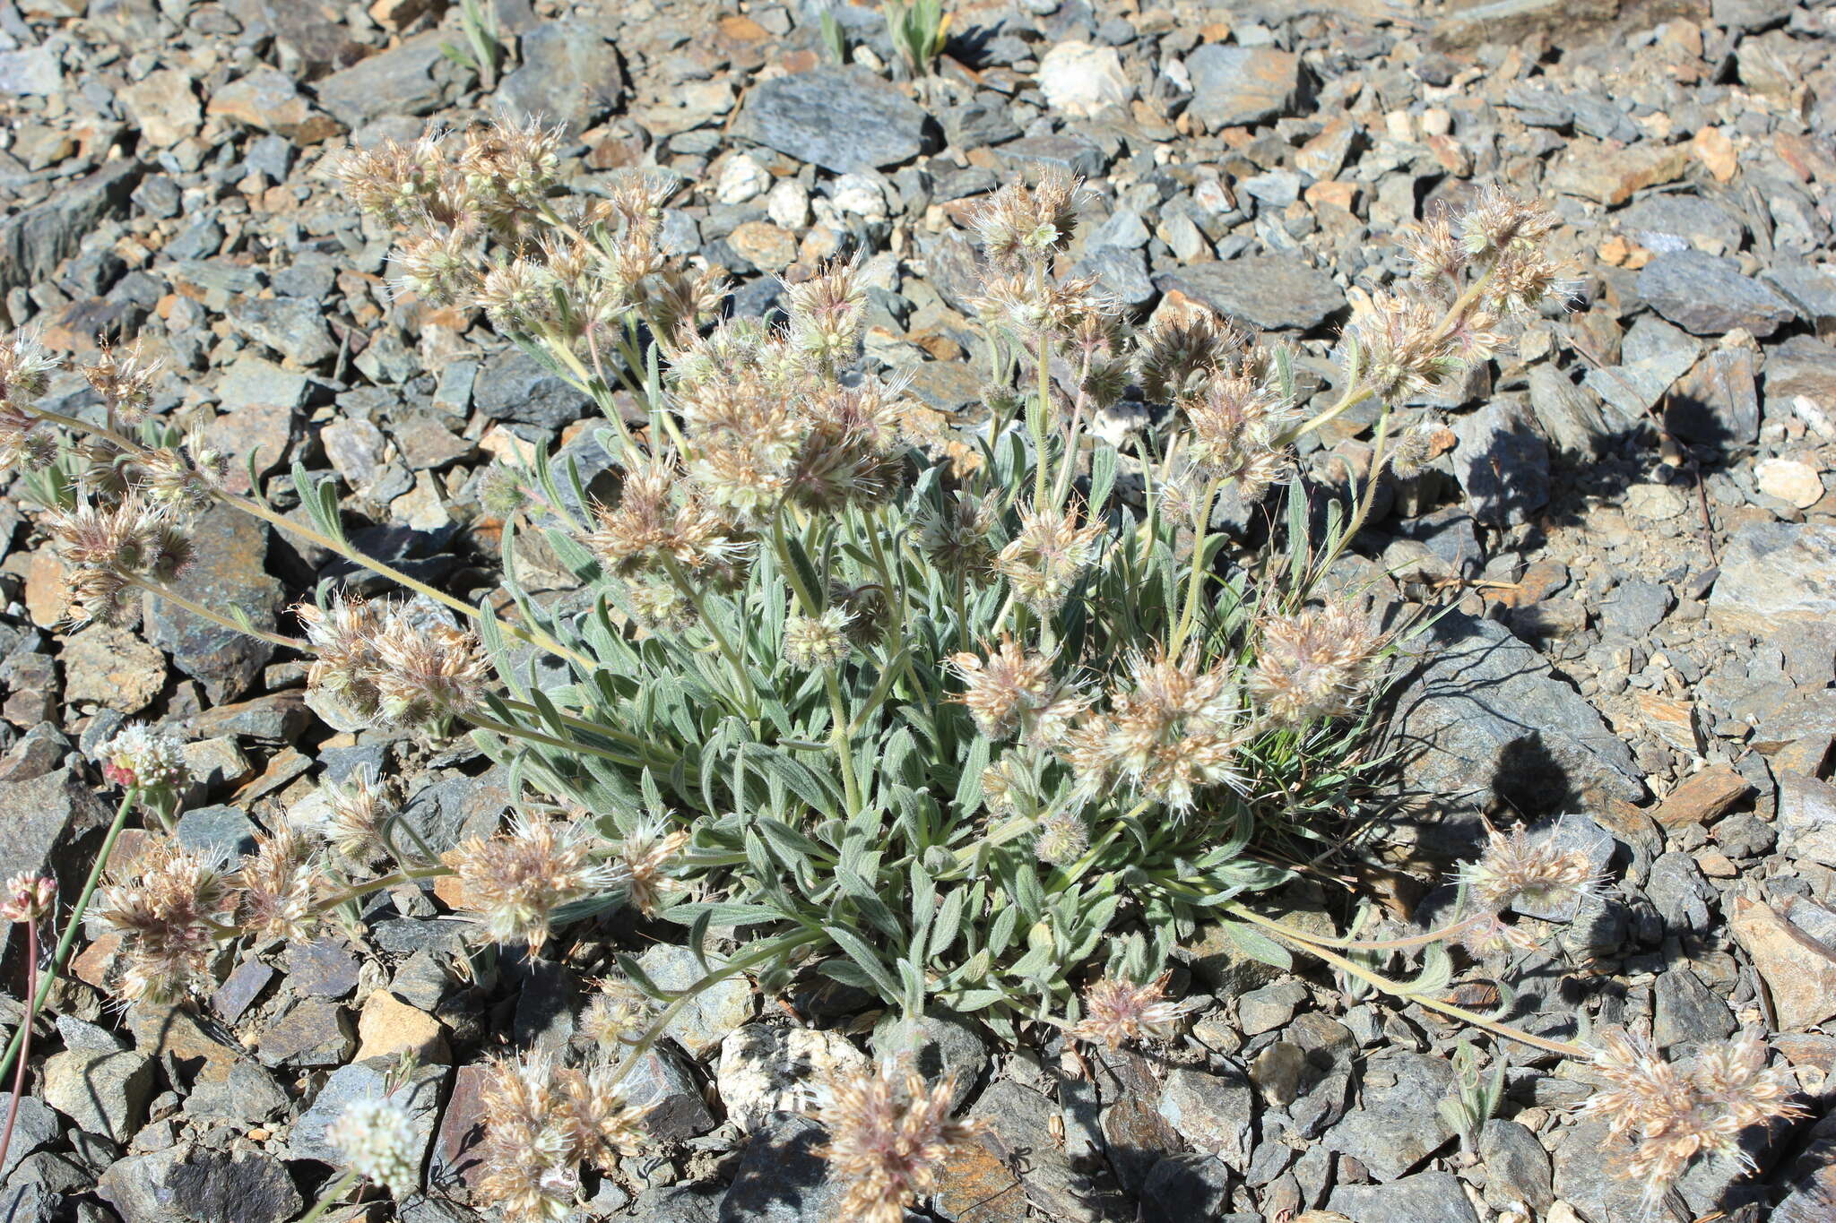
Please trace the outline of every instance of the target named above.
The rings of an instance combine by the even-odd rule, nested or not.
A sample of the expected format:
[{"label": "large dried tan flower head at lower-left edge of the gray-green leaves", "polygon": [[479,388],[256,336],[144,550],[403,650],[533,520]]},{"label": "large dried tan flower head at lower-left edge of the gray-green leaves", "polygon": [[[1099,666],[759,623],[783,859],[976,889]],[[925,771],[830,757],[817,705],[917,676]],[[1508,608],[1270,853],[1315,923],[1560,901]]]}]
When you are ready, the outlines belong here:
[{"label": "large dried tan flower head at lower-left edge of the gray-green leaves", "polygon": [[540,955],[549,920],[564,904],[622,884],[578,825],[518,818],[509,832],[474,836],[448,854],[463,906],[492,942],[523,942]]}]

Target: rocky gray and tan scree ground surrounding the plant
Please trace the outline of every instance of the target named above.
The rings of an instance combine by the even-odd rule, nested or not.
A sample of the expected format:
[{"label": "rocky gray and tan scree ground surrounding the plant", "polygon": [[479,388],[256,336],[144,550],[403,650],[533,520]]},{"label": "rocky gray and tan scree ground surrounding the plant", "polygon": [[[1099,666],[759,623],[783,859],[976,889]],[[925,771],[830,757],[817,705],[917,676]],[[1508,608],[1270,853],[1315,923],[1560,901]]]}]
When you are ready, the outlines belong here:
[{"label": "rocky gray and tan scree ground surrounding the plant", "polygon": [[[477,475],[560,444],[606,457],[584,400],[465,310],[387,290],[389,235],[325,174],[349,145],[496,110],[565,127],[582,191],[621,167],[681,183],[670,242],[766,314],[775,275],[859,251],[867,359],[927,402],[979,402],[982,341],[960,222],[1039,167],[1089,178],[1080,238],[1144,317],[1203,303],[1296,339],[1309,385],[1346,290],[1399,266],[1397,226],[1496,182],[1559,209],[1575,310],[1456,392],[1432,468],[1381,493],[1348,578],[1443,605],[1397,689],[1397,805],[1359,889],[1432,920],[1480,818],[1562,820],[1616,886],[1513,974],[1517,1021],[1649,1023],[1687,1052],[1764,1027],[1814,1111],[1755,1135],[1742,1183],[1704,1168],[1691,1216],[1827,1219],[1836,1199],[1836,9],[1777,0],[953,4],[940,73],[892,84],[876,13],[837,6],[832,64],[802,4],[494,0],[490,92],[452,62],[457,6],[375,0],[0,0],[0,293],[13,326],[84,359],[147,337],[156,411],[235,469],[336,471],[356,537],[490,596],[498,523]],[[62,378],[53,407],[86,405]],[[1371,413],[1309,436],[1322,495],[1370,457]],[[1226,506],[1221,510],[1230,513]],[[1241,513],[1241,543],[1258,519]],[[235,513],[200,526],[182,585],[275,623],[325,556]],[[545,563],[547,561],[547,563]],[[540,552],[525,585],[562,598]],[[498,592],[501,598],[501,592]],[[0,501],[0,858],[73,875],[106,823],[86,763],[125,719],[180,732],[202,777],[182,838],[233,858],[255,825],[362,766],[402,777],[435,845],[496,829],[505,779],[319,717],[303,662],[184,611],[62,627],[62,574]],[[119,849],[132,860],[132,836]],[[1285,904],[1344,930],[1351,880]],[[1421,893],[1427,891],[1427,897]],[[402,1052],[426,1192],[455,1223],[476,1175],[481,1060],[560,1049],[615,946],[685,983],[668,930],[600,930],[549,963],[474,974],[431,893],[375,898],[358,942],[266,946],[196,1012],[105,1003],[106,942],[53,996],[0,1168],[15,1221],[277,1223],[325,1183],[325,1128]],[[1395,922],[1392,922],[1395,926]],[[6,953],[18,1023],[22,953]],[[1588,1087],[1509,1058],[1502,1113],[1463,1146],[1436,1111],[1456,1030],[1204,937],[1177,986],[1208,996],[1171,1047],[1076,1065],[997,1054],[929,1021],[986,1137],[920,1217],[1359,1223],[1638,1216],[1605,1175]],[[235,1032],[246,1034],[237,1038]],[[872,1051],[839,992],[712,990],[639,1073],[654,1148],[582,1217],[821,1219],[839,1186],[795,1111]],[[386,1201],[332,1217],[387,1217]]]}]

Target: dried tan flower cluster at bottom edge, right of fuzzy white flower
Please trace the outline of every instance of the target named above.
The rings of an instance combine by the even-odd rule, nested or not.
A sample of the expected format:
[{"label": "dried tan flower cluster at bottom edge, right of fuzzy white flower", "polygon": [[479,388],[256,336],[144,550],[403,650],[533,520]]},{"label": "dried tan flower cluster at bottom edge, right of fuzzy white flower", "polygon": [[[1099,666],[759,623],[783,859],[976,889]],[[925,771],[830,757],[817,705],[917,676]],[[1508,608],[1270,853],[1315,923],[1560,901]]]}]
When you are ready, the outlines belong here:
[{"label": "dried tan flower cluster at bottom edge, right of fuzzy white flower", "polygon": [[611,1172],[643,1139],[644,1109],[624,1104],[604,1062],[588,1069],[547,1056],[492,1062],[481,1104],[479,1192],[509,1223],[569,1217],[580,1195],[580,1164]]}]

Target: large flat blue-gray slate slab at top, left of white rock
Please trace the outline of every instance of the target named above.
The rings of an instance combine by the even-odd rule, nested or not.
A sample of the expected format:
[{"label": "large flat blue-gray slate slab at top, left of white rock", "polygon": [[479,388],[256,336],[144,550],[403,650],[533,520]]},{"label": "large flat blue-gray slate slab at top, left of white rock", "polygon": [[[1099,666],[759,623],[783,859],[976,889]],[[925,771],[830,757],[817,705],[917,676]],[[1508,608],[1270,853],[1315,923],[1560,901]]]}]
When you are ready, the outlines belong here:
[{"label": "large flat blue-gray slate slab at top, left of white rock", "polygon": [[835,174],[911,161],[929,116],[885,79],[850,64],[799,72],[753,88],[734,132]]}]

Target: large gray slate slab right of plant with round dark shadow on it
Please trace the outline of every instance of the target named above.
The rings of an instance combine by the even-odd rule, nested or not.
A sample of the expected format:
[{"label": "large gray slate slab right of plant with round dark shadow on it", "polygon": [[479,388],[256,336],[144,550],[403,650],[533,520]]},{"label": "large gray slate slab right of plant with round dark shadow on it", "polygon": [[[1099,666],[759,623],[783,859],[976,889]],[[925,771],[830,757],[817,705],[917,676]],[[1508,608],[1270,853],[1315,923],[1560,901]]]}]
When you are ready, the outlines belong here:
[{"label": "large gray slate slab right of plant with round dark shadow on it", "polygon": [[1406,785],[1445,796],[1449,812],[1643,798],[1630,748],[1504,625],[1450,612],[1408,649],[1423,664],[1397,691],[1390,733],[1412,750]]}]

